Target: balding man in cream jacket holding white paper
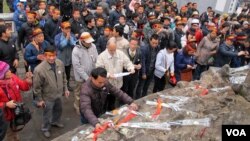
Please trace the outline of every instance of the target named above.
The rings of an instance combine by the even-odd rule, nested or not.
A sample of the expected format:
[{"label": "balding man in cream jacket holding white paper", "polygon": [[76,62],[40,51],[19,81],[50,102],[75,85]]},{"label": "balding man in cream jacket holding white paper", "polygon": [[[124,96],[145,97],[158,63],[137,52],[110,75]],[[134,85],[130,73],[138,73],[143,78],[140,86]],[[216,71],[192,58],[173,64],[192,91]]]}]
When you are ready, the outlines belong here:
[{"label": "balding man in cream jacket holding white paper", "polygon": [[[129,58],[122,51],[116,49],[114,38],[108,41],[107,49],[98,56],[96,67],[105,68],[108,72],[109,82],[118,89],[122,87],[123,79],[122,77],[116,78],[115,74],[122,73],[123,68],[131,74],[135,72],[134,65]],[[115,97],[108,97],[107,103],[108,110],[114,109]]]}]

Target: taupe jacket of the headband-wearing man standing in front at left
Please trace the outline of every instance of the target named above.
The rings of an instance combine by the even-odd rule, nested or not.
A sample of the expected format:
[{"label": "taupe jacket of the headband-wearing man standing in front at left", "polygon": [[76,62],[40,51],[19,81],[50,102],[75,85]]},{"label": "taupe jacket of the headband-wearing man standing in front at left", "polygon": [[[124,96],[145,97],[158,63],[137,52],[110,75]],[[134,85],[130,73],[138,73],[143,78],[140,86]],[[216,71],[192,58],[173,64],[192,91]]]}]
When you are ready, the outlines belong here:
[{"label": "taupe jacket of the headband-wearing man standing in front at left", "polygon": [[64,64],[59,59],[56,59],[55,63],[56,73],[47,61],[43,61],[35,68],[33,92],[38,101],[54,100],[68,90]]}]

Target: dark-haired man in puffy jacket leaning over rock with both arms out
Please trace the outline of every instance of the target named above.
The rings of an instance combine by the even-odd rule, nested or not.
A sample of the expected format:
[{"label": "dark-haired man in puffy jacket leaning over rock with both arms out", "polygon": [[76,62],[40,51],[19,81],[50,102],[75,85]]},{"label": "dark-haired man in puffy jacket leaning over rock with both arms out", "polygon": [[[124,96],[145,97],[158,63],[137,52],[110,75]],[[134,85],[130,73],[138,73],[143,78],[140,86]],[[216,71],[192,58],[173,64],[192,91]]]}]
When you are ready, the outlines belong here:
[{"label": "dark-haired man in puffy jacket leaning over rock with both arms out", "polygon": [[105,113],[105,101],[108,94],[118,97],[126,104],[130,104],[130,109],[138,109],[131,97],[107,81],[107,71],[98,67],[92,70],[91,77],[82,86],[80,103],[83,124],[90,123],[96,128],[100,127],[97,117]]}]

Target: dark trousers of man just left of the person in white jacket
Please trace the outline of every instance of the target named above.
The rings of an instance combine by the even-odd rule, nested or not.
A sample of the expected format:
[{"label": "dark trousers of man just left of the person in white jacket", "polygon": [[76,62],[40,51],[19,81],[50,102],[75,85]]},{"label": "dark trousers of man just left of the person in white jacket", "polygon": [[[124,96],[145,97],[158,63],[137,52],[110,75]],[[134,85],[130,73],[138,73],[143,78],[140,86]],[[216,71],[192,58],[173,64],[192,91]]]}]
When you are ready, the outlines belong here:
[{"label": "dark trousers of man just left of the person in white jacket", "polygon": [[137,86],[137,89],[136,89],[136,99],[139,99],[141,97],[144,97],[147,95],[147,92],[148,92],[148,88],[149,88],[149,85],[153,79],[153,76],[154,76],[154,70],[150,71],[147,75],[147,79],[142,79],[142,77],[140,76],[139,77],[139,82],[138,82],[138,86]]}]

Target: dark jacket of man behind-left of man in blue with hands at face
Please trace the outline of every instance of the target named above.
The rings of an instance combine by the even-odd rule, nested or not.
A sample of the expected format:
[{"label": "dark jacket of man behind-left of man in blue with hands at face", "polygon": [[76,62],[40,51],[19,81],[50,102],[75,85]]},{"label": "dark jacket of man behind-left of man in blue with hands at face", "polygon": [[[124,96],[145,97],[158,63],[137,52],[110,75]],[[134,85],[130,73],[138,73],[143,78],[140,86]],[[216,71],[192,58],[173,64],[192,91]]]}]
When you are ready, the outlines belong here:
[{"label": "dark jacket of man behind-left of man in blue with hands at face", "polygon": [[51,45],[54,45],[54,38],[61,33],[61,21],[49,19],[44,25],[44,37]]}]

